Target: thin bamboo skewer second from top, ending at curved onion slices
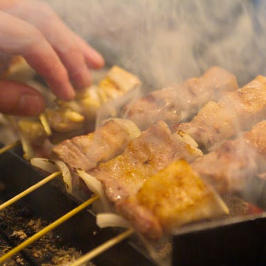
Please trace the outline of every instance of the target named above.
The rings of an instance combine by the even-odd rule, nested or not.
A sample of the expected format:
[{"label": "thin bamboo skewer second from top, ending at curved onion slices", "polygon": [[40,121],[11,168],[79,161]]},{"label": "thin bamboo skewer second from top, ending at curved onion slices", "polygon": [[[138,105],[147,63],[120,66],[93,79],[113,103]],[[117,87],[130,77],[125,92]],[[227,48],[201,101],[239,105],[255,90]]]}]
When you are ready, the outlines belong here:
[{"label": "thin bamboo skewer second from top, ending at curved onion slices", "polygon": [[48,183],[48,181],[51,181],[52,179],[54,179],[55,177],[57,177],[59,175],[61,175],[61,172],[60,171],[53,172],[53,174],[48,175],[48,177],[45,177],[44,179],[42,179],[41,181],[37,182],[33,186],[30,186],[26,190],[24,190],[21,193],[15,195],[15,197],[12,197],[7,202],[4,202],[3,204],[0,205],[0,211],[2,211],[3,209],[5,209],[7,206],[10,206],[11,204],[17,202],[22,197],[25,197],[29,193],[33,192],[34,190],[36,190],[40,186],[43,186],[44,184]]}]

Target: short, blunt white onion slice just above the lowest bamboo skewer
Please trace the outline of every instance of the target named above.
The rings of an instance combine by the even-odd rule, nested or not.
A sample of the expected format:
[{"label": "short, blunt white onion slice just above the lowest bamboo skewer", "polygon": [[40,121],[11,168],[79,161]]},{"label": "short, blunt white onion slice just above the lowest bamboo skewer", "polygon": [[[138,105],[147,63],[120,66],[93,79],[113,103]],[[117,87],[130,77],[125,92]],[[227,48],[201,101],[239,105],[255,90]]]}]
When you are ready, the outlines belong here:
[{"label": "short, blunt white onion slice just above the lowest bamboo skewer", "polygon": [[122,227],[130,228],[130,223],[127,222],[121,215],[116,213],[99,213],[96,215],[96,224],[100,228],[105,227]]}]

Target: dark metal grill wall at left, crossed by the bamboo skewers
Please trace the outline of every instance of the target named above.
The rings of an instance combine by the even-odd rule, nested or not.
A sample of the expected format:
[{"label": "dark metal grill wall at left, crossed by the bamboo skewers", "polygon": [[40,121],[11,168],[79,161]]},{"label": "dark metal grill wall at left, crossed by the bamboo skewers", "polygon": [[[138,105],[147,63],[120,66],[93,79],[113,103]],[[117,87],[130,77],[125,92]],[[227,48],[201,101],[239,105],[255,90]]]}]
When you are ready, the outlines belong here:
[{"label": "dark metal grill wall at left, crossed by the bamboo skewers", "polygon": [[[20,154],[21,151],[16,148],[15,151],[8,151],[0,156],[0,181],[4,186],[1,192],[1,199],[3,200],[17,195],[17,193],[32,186],[44,177],[41,172],[35,170],[27,161],[22,159]],[[78,204],[80,202],[77,199],[64,193],[58,186],[48,183],[21,199],[19,205],[16,204],[15,208],[28,209],[29,215],[41,218],[45,222],[53,222],[78,206]],[[10,223],[6,224],[3,213],[0,213],[0,218],[2,220],[0,228],[3,232],[7,232],[8,224]],[[94,214],[87,209],[53,230],[53,238],[57,238],[55,242],[62,249],[75,247],[77,251],[86,253],[120,232],[119,229],[99,229],[96,226]],[[10,235],[10,233],[7,233],[7,235]],[[10,244],[17,245],[13,241]],[[33,264],[33,262],[29,263],[29,265],[38,265]],[[154,266],[154,262],[145,254],[142,254],[140,250],[133,247],[130,240],[125,240],[112,249],[105,251],[94,259],[94,263],[97,266]]]}]

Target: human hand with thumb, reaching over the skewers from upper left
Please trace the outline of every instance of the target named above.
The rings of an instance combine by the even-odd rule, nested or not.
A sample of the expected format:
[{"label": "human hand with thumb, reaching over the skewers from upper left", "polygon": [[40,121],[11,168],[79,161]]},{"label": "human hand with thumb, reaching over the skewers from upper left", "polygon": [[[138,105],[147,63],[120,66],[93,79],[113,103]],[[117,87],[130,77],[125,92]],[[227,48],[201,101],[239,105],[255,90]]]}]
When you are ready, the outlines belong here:
[{"label": "human hand with thumb, reaching over the skewers from upper left", "polygon": [[[103,67],[103,57],[73,33],[42,1],[0,0],[0,53],[21,55],[44,77],[55,96],[71,100],[75,89],[90,85],[89,69]],[[33,88],[0,81],[0,112],[34,116],[44,109]]]}]

